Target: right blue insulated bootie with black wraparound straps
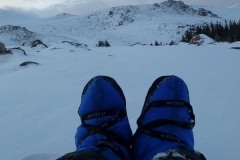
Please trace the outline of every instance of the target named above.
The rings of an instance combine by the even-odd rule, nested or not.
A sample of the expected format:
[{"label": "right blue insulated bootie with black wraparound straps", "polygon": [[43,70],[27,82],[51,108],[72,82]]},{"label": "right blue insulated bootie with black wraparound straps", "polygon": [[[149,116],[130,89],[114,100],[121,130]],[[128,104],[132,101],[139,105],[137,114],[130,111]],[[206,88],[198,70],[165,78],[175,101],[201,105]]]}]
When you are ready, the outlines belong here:
[{"label": "right blue insulated bootie with black wraparound straps", "polygon": [[195,125],[188,89],[176,76],[154,81],[147,93],[133,137],[133,159],[151,160],[169,150],[193,150]]}]

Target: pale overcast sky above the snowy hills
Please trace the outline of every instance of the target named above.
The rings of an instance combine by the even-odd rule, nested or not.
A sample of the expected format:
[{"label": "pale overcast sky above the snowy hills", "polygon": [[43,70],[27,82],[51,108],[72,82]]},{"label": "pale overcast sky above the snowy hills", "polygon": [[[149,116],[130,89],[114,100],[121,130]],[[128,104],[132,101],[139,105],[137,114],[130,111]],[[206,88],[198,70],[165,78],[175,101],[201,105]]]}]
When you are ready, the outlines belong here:
[{"label": "pale overcast sky above the snowy hills", "polygon": [[[0,8],[35,13],[41,17],[59,13],[80,15],[122,5],[153,4],[165,0],[0,0]],[[240,0],[182,0],[188,5],[228,7]]]}]

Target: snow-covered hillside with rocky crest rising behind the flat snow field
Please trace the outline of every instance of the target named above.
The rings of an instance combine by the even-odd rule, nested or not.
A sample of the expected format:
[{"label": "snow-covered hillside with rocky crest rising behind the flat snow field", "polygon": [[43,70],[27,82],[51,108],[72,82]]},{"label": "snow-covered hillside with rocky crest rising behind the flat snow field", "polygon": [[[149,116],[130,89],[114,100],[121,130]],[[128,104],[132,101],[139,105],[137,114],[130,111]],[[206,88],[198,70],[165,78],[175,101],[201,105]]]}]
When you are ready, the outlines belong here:
[{"label": "snow-covered hillside with rocky crest rising behind the flat snow field", "polygon": [[[41,39],[50,44],[58,42],[59,37],[62,41],[71,40],[89,46],[95,46],[99,40],[108,40],[113,46],[150,44],[155,40],[166,44],[172,40],[179,42],[192,25],[224,22],[224,19],[239,20],[239,15],[237,9],[188,6],[181,1],[168,0],[113,7],[80,16],[62,14],[35,22],[22,21],[18,25],[41,35]],[[0,25],[6,24],[3,21]]]}]

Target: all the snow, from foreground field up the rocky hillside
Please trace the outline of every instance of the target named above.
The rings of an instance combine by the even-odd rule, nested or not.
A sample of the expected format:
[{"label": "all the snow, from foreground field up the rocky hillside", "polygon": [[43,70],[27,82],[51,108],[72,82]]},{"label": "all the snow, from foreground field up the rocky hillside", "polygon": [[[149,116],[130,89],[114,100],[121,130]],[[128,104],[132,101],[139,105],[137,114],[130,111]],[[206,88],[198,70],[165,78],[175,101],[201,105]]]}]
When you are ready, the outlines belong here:
[{"label": "all the snow, from foreground field up the rocky hillside", "polygon": [[[0,28],[19,26],[11,33],[0,32],[0,41],[7,49],[21,47],[27,54],[17,49],[0,54],[0,159],[54,160],[74,151],[81,93],[96,75],[111,76],[121,86],[133,132],[153,81],[179,76],[188,85],[196,115],[195,149],[210,160],[238,159],[240,50],[231,48],[240,47],[240,42],[212,43],[201,35],[201,46],[166,43],[177,41],[194,24],[238,20],[240,10],[191,6],[221,17],[217,18],[156,8],[161,5],[114,7],[52,20],[0,21]],[[25,32],[35,37],[16,40],[18,34],[28,35]],[[21,46],[31,38],[48,48]],[[98,40],[108,40],[111,47],[96,47]],[[155,40],[163,46],[150,46]],[[29,61],[38,65],[19,66]]]}]

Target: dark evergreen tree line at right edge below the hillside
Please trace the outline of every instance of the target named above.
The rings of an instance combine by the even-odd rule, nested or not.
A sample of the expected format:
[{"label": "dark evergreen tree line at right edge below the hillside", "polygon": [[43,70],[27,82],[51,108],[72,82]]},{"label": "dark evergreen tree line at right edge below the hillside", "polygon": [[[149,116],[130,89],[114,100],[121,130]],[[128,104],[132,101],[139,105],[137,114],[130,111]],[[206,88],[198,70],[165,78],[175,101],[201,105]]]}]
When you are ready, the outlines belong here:
[{"label": "dark evergreen tree line at right edge below the hillside", "polygon": [[215,24],[205,23],[188,29],[182,36],[182,42],[189,42],[194,36],[205,34],[214,39],[216,42],[236,42],[240,41],[240,20],[227,21],[224,23],[216,22]]}]

